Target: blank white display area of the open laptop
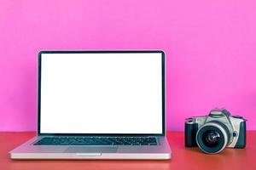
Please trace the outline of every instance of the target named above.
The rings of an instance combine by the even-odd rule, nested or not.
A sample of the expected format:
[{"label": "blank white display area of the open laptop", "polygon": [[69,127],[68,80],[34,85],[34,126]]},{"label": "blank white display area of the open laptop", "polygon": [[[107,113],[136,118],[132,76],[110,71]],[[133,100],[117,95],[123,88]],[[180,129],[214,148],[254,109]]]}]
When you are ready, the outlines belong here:
[{"label": "blank white display area of the open laptop", "polygon": [[160,53],[42,54],[41,133],[162,133]]}]

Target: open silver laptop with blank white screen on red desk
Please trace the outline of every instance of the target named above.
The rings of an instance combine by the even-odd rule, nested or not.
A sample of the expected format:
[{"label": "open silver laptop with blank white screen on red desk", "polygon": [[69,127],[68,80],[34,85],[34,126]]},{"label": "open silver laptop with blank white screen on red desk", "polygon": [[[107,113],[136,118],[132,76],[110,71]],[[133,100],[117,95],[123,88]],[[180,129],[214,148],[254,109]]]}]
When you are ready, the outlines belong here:
[{"label": "open silver laptop with blank white screen on red desk", "polygon": [[166,160],[165,54],[41,51],[38,133],[11,159]]}]

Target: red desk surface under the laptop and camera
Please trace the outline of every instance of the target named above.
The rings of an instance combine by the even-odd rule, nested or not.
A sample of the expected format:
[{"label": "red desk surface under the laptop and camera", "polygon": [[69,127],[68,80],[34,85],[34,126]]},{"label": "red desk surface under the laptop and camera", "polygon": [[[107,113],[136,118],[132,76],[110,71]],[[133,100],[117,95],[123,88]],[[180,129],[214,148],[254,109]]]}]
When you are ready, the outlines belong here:
[{"label": "red desk surface under the laptop and camera", "polygon": [[203,154],[198,148],[184,148],[182,132],[168,132],[172,147],[170,161],[13,161],[9,150],[14,149],[36,133],[0,133],[0,170],[8,169],[186,169],[256,170],[256,131],[247,132],[246,149],[225,149],[218,155]]}]

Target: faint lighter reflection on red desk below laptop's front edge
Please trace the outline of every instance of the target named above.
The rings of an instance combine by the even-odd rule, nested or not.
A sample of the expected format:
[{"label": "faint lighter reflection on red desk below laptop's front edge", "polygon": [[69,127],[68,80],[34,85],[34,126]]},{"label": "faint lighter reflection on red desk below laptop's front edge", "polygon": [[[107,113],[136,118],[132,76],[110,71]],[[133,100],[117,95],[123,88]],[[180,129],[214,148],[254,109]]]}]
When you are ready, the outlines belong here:
[{"label": "faint lighter reflection on red desk below laptop's front edge", "polygon": [[170,169],[171,161],[12,161],[11,169]]}]

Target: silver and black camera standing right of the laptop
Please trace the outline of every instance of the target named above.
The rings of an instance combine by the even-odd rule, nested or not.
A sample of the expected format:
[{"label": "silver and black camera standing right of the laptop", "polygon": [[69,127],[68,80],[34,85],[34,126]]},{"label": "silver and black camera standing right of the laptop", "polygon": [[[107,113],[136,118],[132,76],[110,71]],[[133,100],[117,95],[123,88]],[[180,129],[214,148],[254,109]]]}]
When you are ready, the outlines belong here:
[{"label": "silver and black camera standing right of the laptop", "polygon": [[246,120],[231,116],[225,109],[214,109],[208,116],[193,116],[185,122],[185,146],[198,146],[207,154],[215,154],[225,147],[245,148]]}]

